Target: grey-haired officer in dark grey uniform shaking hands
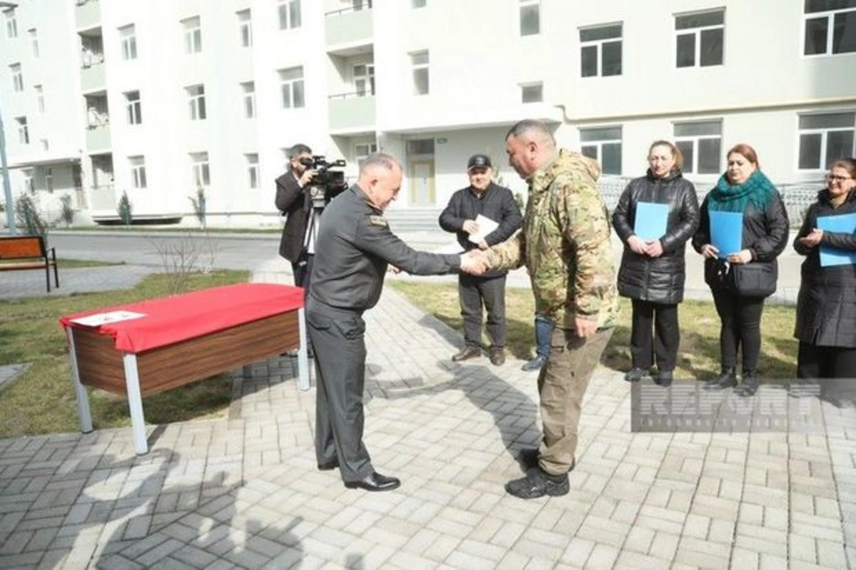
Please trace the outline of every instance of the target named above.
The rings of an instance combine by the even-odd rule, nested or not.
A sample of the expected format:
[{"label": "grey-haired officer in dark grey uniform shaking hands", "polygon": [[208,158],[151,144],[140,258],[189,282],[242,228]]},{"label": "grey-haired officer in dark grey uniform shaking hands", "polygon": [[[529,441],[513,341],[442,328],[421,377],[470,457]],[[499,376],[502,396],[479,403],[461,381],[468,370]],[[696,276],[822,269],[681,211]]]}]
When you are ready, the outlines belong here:
[{"label": "grey-haired officer in dark grey uniform shaking hands", "polygon": [[357,183],[327,206],[318,229],[306,301],[318,377],[315,454],[318,469],[338,466],[349,488],[383,491],[401,484],[375,472],[362,441],[362,314],[377,304],[388,264],[416,275],[482,270],[482,264],[467,255],[417,252],[395,237],[383,210],[400,188],[401,165],[388,154],[374,154],[360,168]]}]

